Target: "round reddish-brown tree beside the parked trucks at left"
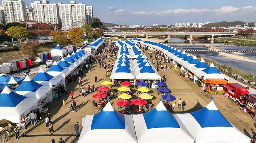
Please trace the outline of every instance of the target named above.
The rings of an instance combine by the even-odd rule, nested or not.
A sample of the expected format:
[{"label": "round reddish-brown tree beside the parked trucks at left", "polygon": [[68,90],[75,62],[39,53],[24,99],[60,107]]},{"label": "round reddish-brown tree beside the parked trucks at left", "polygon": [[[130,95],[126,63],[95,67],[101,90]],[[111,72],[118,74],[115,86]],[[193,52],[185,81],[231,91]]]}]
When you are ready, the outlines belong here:
[{"label": "round reddish-brown tree beside the parked trucks at left", "polygon": [[40,44],[38,42],[28,41],[26,43],[21,43],[19,45],[19,49],[23,54],[34,60],[37,57],[37,51],[39,49],[39,46]]}]

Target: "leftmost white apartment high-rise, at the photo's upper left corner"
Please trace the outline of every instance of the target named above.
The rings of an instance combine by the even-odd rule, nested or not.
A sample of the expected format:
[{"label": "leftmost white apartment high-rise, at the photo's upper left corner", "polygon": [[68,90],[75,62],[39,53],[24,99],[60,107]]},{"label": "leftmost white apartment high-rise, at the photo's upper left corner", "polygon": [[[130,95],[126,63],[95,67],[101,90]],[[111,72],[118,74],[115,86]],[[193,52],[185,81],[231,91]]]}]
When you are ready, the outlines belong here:
[{"label": "leftmost white apartment high-rise, at the photo's upper left corner", "polygon": [[25,21],[26,6],[22,0],[2,0],[6,23]]}]

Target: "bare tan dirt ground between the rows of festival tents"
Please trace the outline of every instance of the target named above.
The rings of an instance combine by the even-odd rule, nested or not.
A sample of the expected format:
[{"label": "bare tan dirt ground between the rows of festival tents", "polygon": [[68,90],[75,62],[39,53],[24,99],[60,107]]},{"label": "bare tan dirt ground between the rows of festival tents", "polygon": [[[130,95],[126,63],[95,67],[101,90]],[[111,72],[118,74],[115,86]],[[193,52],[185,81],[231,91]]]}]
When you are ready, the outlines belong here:
[{"label": "bare tan dirt ground between the rows of festival tents", "polygon": [[[112,62],[114,62],[114,60],[110,61],[110,65]],[[176,106],[173,111],[174,113],[188,113],[199,110],[200,108],[203,108],[205,105],[207,105],[211,101],[210,98],[213,96],[217,108],[224,115],[224,117],[226,117],[226,119],[228,119],[234,126],[236,126],[249,137],[251,137],[252,134],[255,133],[254,131],[256,131],[256,122],[253,121],[252,117],[248,113],[243,113],[235,102],[228,98],[225,98],[223,94],[216,94],[210,96],[209,93],[203,92],[195,83],[191,82],[188,78],[179,77],[179,71],[160,70],[159,73],[161,76],[166,75],[166,83],[168,85],[168,88],[172,90],[172,94],[176,97],[176,99],[181,98],[182,100],[186,101],[186,111],[182,112]],[[95,83],[94,80],[95,75],[98,77],[97,83]],[[86,90],[89,84],[94,84],[95,87],[100,87],[100,83],[105,80],[109,80],[109,77],[106,77],[105,70],[103,68],[100,68],[98,64],[95,64],[91,72],[83,71],[82,86]],[[120,111],[120,109],[117,108],[116,101],[117,96],[118,94],[120,94],[120,92],[117,92],[116,89],[119,86],[120,85],[114,85],[112,87],[112,89],[115,89],[114,91],[116,91],[116,93],[115,96],[113,96],[113,99],[110,101],[112,106],[118,111]],[[75,138],[74,124],[76,122],[79,122],[79,127],[81,129],[82,118],[84,118],[86,115],[99,112],[96,108],[93,108],[92,104],[92,101],[94,100],[92,98],[92,95],[96,92],[88,94],[85,98],[82,98],[81,96],[79,97],[79,86],[77,81],[67,84],[67,87],[68,93],[71,90],[74,90],[74,99],[76,101],[78,111],[70,112],[69,106],[71,104],[71,97],[69,95],[62,95],[59,101],[49,103],[47,105],[47,108],[49,108],[49,111],[53,115],[52,121],[53,129],[55,131],[52,136],[50,136],[44,120],[41,120],[40,122],[37,122],[35,126],[27,126],[28,128],[26,129],[25,137],[21,137],[19,140],[15,140],[15,136],[14,134],[12,134],[9,141],[6,142],[50,143],[52,139],[58,142],[62,137],[65,143],[76,143],[78,141],[78,138]],[[152,89],[150,93],[155,97],[152,101],[153,105],[155,106],[159,103],[160,96],[156,95],[155,89]],[[136,96],[134,95],[133,99],[135,98]],[[66,100],[66,105],[64,106],[62,106],[63,99]],[[97,99],[95,101],[97,101]],[[138,106],[133,105],[133,113],[135,113],[134,111],[137,108]],[[2,126],[3,124],[5,124],[5,121],[2,120],[0,124]]]}]

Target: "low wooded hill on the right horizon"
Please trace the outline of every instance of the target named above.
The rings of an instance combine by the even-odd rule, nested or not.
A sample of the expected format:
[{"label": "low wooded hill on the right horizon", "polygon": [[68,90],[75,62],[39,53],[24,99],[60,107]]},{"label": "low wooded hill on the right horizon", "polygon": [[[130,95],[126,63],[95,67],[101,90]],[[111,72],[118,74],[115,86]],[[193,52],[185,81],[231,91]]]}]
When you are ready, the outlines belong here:
[{"label": "low wooded hill on the right horizon", "polygon": [[[241,25],[244,26],[246,22],[244,21],[232,21],[232,22],[227,22],[227,21],[221,21],[221,22],[217,22],[217,23],[209,23],[209,24],[205,24],[202,27],[205,28],[212,28],[212,27],[228,27],[228,26],[236,26],[236,25]],[[249,26],[253,26],[254,23],[249,23]]]}]

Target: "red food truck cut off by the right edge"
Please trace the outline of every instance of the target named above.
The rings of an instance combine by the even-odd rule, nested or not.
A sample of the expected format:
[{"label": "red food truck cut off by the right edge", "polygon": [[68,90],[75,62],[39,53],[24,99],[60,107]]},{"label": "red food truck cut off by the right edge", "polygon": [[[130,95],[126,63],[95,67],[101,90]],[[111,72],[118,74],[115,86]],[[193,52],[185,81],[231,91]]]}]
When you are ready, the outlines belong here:
[{"label": "red food truck cut off by the right edge", "polygon": [[256,94],[246,94],[244,97],[246,99],[245,108],[247,112],[255,116]]}]

